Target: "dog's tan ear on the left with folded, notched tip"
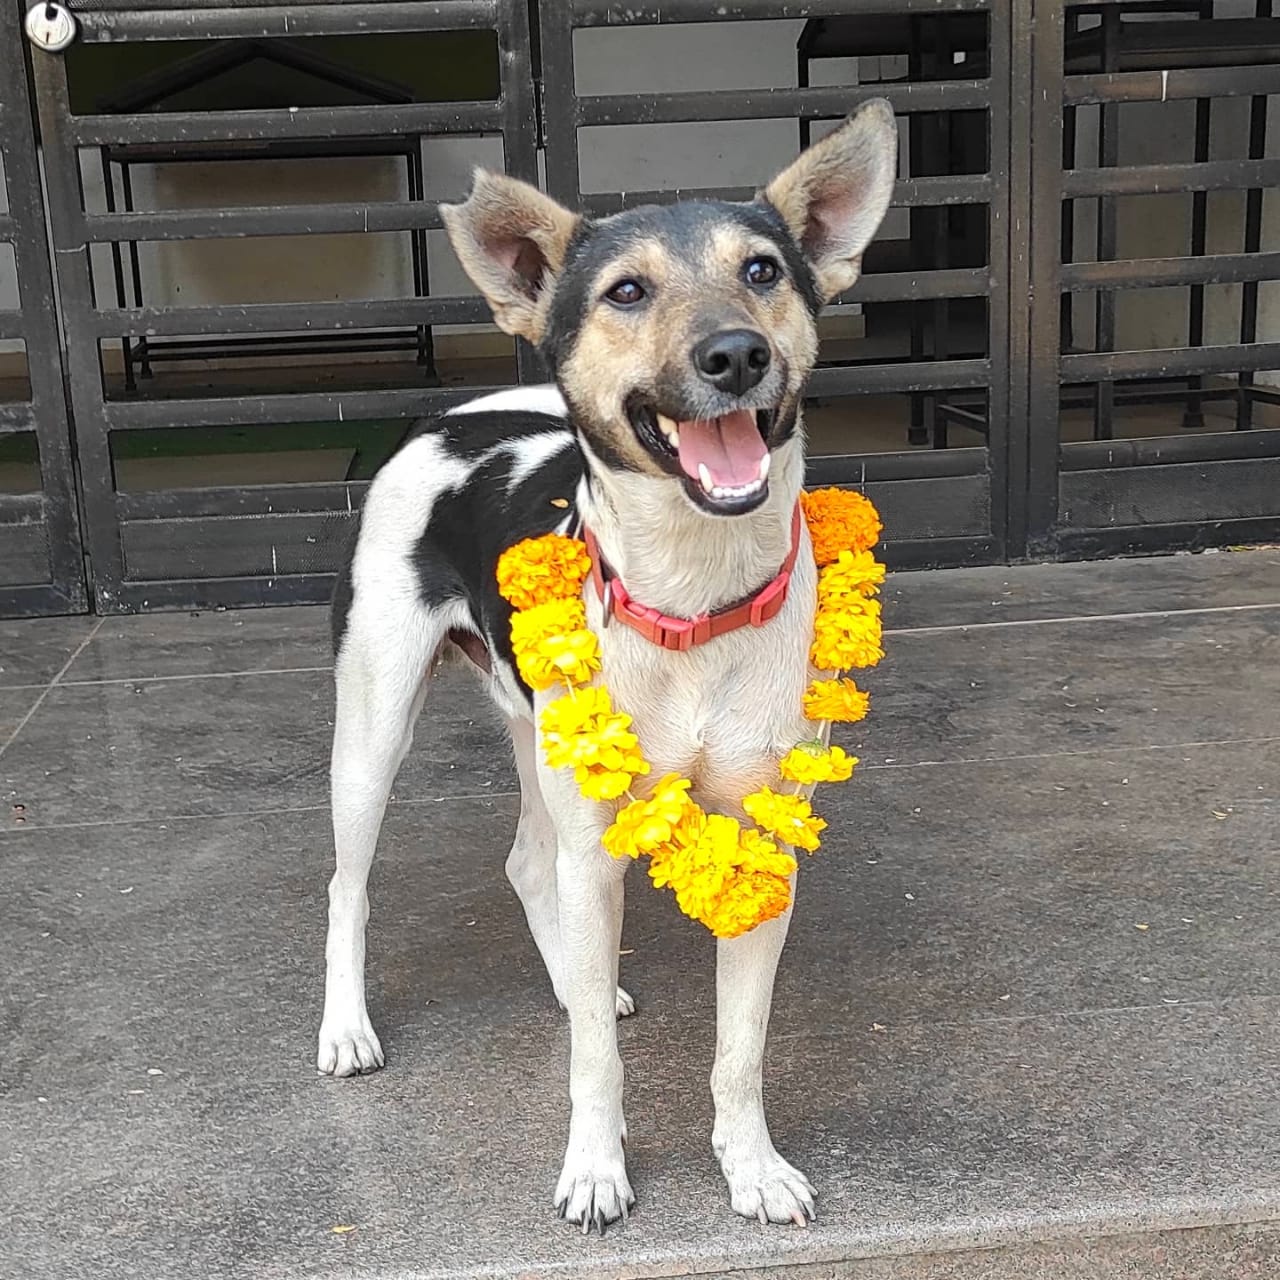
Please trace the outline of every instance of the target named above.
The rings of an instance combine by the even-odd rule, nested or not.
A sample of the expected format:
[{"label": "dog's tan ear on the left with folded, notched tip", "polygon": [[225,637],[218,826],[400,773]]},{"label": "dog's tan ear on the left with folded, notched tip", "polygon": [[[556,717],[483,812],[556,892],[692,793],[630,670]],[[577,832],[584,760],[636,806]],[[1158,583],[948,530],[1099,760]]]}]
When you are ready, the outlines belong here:
[{"label": "dog's tan ear on the left with folded, notched tip", "polygon": [[471,195],[440,205],[440,216],[498,326],[536,344],[577,215],[529,183],[477,169]]}]

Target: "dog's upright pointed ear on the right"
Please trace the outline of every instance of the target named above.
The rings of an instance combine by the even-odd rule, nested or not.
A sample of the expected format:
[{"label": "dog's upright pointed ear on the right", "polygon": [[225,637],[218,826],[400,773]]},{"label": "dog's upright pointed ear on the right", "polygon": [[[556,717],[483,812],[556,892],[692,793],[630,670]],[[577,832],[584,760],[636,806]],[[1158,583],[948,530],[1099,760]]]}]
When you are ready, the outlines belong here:
[{"label": "dog's upright pointed ear on the right", "polygon": [[888,209],[897,178],[897,125],[882,97],[773,179],[762,192],[791,228],[829,302],[856,279],[863,250]]}]

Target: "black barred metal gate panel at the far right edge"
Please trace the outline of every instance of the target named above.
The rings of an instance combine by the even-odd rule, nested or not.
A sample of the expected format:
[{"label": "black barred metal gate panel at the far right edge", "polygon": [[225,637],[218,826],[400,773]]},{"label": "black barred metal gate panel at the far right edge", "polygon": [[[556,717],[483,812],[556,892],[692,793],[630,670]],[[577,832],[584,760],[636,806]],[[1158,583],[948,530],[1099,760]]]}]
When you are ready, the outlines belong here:
[{"label": "black barred metal gate panel at the far right edge", "polygon": [[1280,383],[1258,376],[1280,369],[1280,317],[1260,315],[1280,276],[1262,218],[1280,19],[1249,8],[1034,5],[1029,483],[1011,539],[1032,556],[1280,532]]}]

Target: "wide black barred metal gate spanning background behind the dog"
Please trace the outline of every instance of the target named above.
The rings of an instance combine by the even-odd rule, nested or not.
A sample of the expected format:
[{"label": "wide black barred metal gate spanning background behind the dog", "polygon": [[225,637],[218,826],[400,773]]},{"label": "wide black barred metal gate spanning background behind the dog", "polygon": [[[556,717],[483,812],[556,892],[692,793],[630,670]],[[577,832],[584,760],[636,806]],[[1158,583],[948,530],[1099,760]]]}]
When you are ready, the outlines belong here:
[{"label": "wide black barred metal gate spanning background behind the dog", "polygon": [[[489,163],[532,180],[541,151],[547,189],[603,214],[748,196],[873,95],[904,122],[904,168],[861,280],[823,320],[810,479],[865,488],[900,567],[1280,536],[1271,0],[141,0],[78,19],[72,51],[33,54],[33,69],[100,611],[324,599],[404,421],[538,378],[513,348],[461,380],[439,372],[440,326],[477,332],[488,314],[428,278],[442,192],[428,202],[425,142],[500,138]],[[364,70],[329,58],[347,37],[372,50]],[[484,46],[479,61],[474,44],[433,46],[436,79],[484,58],[492,72],[479,90],[461,72],[449,92],[406,88],[385,70],[411,38]],[[83,90],[95,52],[160,46],[193,52],[159,70],[134,52],[128,92]],[[328,96],[200,100],[201,77],[246,59]],[[204,204],[147,207],[133,177],[352,155],[403,164],[403,193],[244,205],[215,182]],[[460,172],[445,193],[465,186]],[[140,264],[177,242],[349,233],[410,237],[403,296],[188,302],[143,287]],[[388,352],[403,357],[361,364]],[[303,356],[312,372],[291,372]],[[196,440],[180,471],[147,443],[175,438]],[[253,452],[273,440],[294,460],[274,471]],[[308,474],[316,442],[346,470]],[[67,479],[50,448],[46,512]],[[0,499],[0,535],[13,509]],[[59,509],[70,608],[79,558]]]}]

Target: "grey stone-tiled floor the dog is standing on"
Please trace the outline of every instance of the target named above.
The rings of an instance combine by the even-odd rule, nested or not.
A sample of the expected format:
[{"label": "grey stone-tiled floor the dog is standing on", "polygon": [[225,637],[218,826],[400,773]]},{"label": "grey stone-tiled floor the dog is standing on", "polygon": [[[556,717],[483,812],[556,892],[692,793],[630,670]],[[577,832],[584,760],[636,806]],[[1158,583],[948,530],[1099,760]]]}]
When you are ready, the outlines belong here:
[{"label": "grey stone-tiled floor the dog is standing on", "polygon": [[768,1057],[818,1224],[730,1212],[712,947],[636,881],[603,1240],[550,1211],[567,1028],[467,690],[374,872],[387,1069],[320,1079],[323,612],[0,623],[0,1275],[1280,1274],[1280,550],[901,575],[886,617]]}]

